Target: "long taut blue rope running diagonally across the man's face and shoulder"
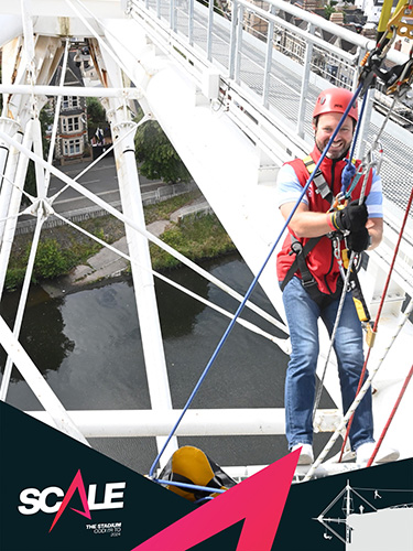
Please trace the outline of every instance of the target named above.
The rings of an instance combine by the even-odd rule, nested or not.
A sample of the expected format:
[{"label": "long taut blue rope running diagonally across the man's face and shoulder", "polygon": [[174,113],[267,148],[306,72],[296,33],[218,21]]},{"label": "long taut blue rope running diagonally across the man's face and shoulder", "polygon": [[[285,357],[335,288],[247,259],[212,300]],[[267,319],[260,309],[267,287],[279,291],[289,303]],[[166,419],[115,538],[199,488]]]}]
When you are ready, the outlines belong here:
[{"label": "long taut blue rope running diagonally across the man's face and shoulder", "polygon": [[205,369],[204,369],[204,371],[203,371],[202,376],[199,377],[198,382],[195,385],[195,388],[194,388],[194,390],[192,391],[192,393],[191,393],[191,396],[189,396],[189,398],[188,398],[188,400],[187,400],[187,402],[186,402],[186,404],[185,404],[184,409],[182,410],[182,412],[181,412],[181,415],[180,415],[178,420],[176,421],[176,423],[175,423],[175,425],[173,426],[173,429],[172,429],[172,431],[171,431],[170,435],[167,436],[167,439],[166,439],[166,441],[165,441],[165,443],[164,443],[164,445],[163,445],[162,450],[160,451],[160,453],[157,454],[157,456],[156,456],[155,461],[153,462],[153,464],[152,464],[152,466],[151,466],[151,469],[150,469],[150,472],[149,472],[149,476],[150,476],[151,478],[153,477],[153,472],[154,472],[154,469],[156,468],[156,465],[157,465],[157,463],[159,463],[160,458],[162,457],[163,452],[165,451],[165,449],[166,449],[167,444],[170,443],[170,441],[171,441],[172,436],[173,436],[173,435],[174,435],[174,433],[176,432],[176,429],[177,429],[177,426],[180,425],[180,423],[181,423],[181,421],[182,421],[183,417],[185,415],[186,411],[188,410],[189,406],[192,404],[192,402],[193,402],[193,400],[194,400],[194,398],[195,398],[196,393],[198,392],[198,390],[199,390],[199,388],[200,388],[202,383],[204,382],[205,377],[207,376],[207,374],[208,374],[208,371],[209,371],[210,367],[213,366],[214,361],[216,360],[216,358],[217,358],[217,356],[218,356],[218,354],[219,354],[220,349],[222,348],[224,343],[227,341],[227,338],[228,338],[228,336],[229,336],[230,332],[232,331],[232,327],[233,327],[233,325],[236,324],[238,316],[241,314],[241,312],[242,312],[242,310],[243,310],[243,307],[244,307],[244,305],[246,305],[246,303],[247,303],[248,299],[249,299],[249,298],[250,298],[250,295],[252,294],[252,291],[254,290],[254,288],[256,288],[256,285],[257,285],[257,283],[258,283],[258,280],[259,280],[259,279],[260,279],[260,277],[261,277],[261,273],[263,272],[263,270],[264,270],[265,266],[268,264],[268,262],[269,262],[269,260],[270,260],[270,258],[271,258],[272,253],[274,252],[274,250],[275,250],[276,246],[279,245],[280,239],[282,238],[282,236],[283,236],[283,234],[284,234],[285,229],[287,228],[287,226],[289,226],[289,224],[290,224],[290,222],[291,222],[291,218],[294,216],[295,210],[297,209],[297,207],[298,207],[298,205],[300,205],[300,203],[301,203],[302,198],[304,197],[304,195],[305,195],[305,193],[307,192],[307,190],[308,190],[308,187],[309,187],[311,183],[313,182],[314,175],[316,174],[316,172],[317,172],[317,170],[318,170],[319,165],[320,165],[320,164],[322,164],[322,162],[324,161],[324,159],[325,159],[325,156],[326,156],[326,154],[327,154],[327,152],[328,152],[328,150],[329,150],[329,148],[330,148],[330,145],[332,145],[333,141],[335,140],[335,138],[336,138],[336,136],[337,136],[338,131],[339,131],[339,130],[340,130],[340,128],[341,128],[343,122],[346,120],[346,118],[347,118],[347,116],[348,116],[348,114],[349,114],[349,111],[350,111],[350,109],[351,109],[352,104],[356,101],[357,96],[360,94],[361,88],[362,88],[362,84],[359,84],[359,86],[358,86],[358,88],[357,88],[357,90],[356,90],[356,93],[355,93],[355,95],[354,95],[354,97],[352,97],[352,100],[349,102],[349,105],[348,105],[347,109],[345,110],[345,112],[343,114],[343,117],[341,117],[341,119],[339,120],[339,122],[338,122],[338,125],[337,125],[337,127],[336,127],[335,131],[333,132],[332,138],[328,140],[328,143],[327,143],[327,145],[325,147],[325,149],[324,149],[324,151],[323,151],[323,153],[322,153],[322,155],[320,155],[320,158],[319,158],[319,160],[318,160],[318,162],[317,162],[317,164],[316,164],[316,166],[315,166],[314,171],[313,171],[313,172],[312,172],[312,174],[309,175],[309,179],[307,180],[307,182],[306,182],[305,186],[303,187],[303,191],[302,191],[302,193],[301,193],[301,195],[300,195],[300,197],[298,197],[297,202],[295,203],[295,205],[294,205],[293,209],[291,210],[290,216],[286,218],[285,224],[284,224],[284,226],[283,226],[282,230],[280,231],[280,235],[279,235],[279,237],[276,238],[276,240],[275,240],[274,245],[272,246],[272,248],[271,248],[271,250],[270,250],[270,253],[268,255],[268,257],[267,257],[267,259],[265,259],[264,263],[262,264],[262,267],[261,267],[261,269],[259,270],[258,274],[257,274],[257,276],[256,276],[256,278],[253,279],[252,283],[250,284],[250,287],[249,287],[249,289],[248,289],[248,291],[247,291],[247,293],[246,293],[246,295],[244,295],[244,298],[243,298],[242,302],[241,302],[241,303],[240,303],[240,305],[238,306],[237,312],[235,313],[235,315],[233,315],[232,320],[230,321],[230,323],[229,323],[229,325],[228,325],[228,327],[227,327],[226,332],[224,333],[224,335],[222,335],[221,339],[219,341],[219,343],[218,343],[218,345],[217,345],[217,347],[216,347],[216,349],[215,349],[215,352],[214,352],[213,356],[210,357],[210,359],[209,359],[208,364],[206,365],[206,367],[205,367]]}]

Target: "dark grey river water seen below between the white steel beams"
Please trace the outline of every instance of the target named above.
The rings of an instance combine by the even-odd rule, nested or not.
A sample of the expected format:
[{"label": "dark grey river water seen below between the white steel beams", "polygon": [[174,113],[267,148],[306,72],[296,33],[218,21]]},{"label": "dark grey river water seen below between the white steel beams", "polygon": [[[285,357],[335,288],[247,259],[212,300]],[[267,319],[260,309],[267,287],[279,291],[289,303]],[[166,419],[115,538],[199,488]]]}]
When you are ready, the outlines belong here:
[{"label": "dark grey river water seen below between the white steel beams", "polygon": [[[203,267],[242,294],[252,281],[238,255]],[[238,302],[189,269],[175,270],[169,277],[226,310],[238,307]],[[173,407],[182,408],[229,320],[159,280],[156,296]],[[251,300],[276,315],[259,285]],[[2,301],[0,313],[9,322],[17,301],[17,293]],[[281,335],[247,310],[242,316]],[[130,280],[111,280],[55,299],[42,288],[33,288],[21,342],[66,409],[150,408]],[[2,350],[0,361],[3,366]],[[276,345],[236,324],[192,407],[283,407],[286,364],[287,356]],[[22,410],[42,409],[15,368],[7,401]],[[322,407],[332,406],[325,397]],[[317,439],[316,447],[325,441]],[[154,439],[90,439],[90,444],[139,473],[146,473],[156,456]],[[180,439],[180,445],[185,444],[202,447],[221,465],[267,464],[287,452],[284,436]]]}]

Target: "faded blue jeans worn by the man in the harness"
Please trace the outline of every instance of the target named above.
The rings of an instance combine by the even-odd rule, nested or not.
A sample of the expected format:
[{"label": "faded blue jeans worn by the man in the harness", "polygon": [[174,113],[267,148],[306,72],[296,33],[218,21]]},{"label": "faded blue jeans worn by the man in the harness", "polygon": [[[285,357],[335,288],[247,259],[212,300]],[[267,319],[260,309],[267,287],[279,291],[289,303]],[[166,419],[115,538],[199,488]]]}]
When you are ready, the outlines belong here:
[{"label": "faded blue jeans worn by the man in the harness", "polygon": [[[291,449],[295,444],[313,443],[315,372],[319,352],[317,321],[318,317],[323,320],[330,335],[339,299],[320,310],[309,298],[301,280],[294,277],[285,285],[283,302],[292,345],[285,379],[285,434]],[[355,399],[363,366],[362,328],[351,293],[346,293],[334,350],[337,356],[343,411],[346,413]],[[366,442],[373,442],[370,389],[355,412],[349,439],[352,450]]]}]

